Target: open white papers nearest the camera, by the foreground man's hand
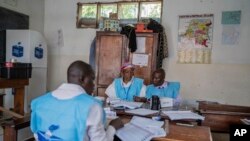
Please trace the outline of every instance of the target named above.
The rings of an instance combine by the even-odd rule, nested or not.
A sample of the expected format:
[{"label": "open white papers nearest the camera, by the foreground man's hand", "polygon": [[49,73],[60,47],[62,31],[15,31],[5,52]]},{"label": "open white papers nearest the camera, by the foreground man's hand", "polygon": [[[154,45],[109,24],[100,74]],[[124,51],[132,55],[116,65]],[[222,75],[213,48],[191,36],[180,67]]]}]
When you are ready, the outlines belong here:
[{"label": "open white papers nearest the camera, by the foreground man's hand", "polygon": [[150,141],[153,137],[166,136],[163,121],[134,116],[129,123],[116,132],[123,141]]}]

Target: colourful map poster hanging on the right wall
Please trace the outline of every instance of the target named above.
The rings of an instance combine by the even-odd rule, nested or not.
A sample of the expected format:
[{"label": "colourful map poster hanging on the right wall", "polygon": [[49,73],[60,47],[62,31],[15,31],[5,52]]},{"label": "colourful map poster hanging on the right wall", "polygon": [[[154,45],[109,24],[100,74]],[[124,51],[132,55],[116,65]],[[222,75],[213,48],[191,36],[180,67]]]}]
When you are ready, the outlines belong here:
[{"label": "colourful map poster hanging on the right wall", "polygon": [[213,14],[179,16],[178,63],[211,63],[213,24]]}]

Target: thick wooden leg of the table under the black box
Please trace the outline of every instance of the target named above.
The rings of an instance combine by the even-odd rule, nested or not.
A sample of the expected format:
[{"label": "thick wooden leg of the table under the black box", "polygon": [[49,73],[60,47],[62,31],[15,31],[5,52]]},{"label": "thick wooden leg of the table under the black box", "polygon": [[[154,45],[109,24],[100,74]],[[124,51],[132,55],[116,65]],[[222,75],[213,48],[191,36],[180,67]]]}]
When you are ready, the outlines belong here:
[{"label": "thick wooden leg of the table under the black box", "polygon": [[15,88],[14,111],[21,115],[24,115],[24,92],[24,87]]}]

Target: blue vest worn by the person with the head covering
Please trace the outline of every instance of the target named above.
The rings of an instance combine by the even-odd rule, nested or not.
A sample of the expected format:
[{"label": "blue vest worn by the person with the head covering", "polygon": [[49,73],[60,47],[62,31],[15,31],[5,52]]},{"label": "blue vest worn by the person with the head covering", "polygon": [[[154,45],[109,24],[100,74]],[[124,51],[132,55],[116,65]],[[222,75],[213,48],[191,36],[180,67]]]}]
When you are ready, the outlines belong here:
[{"label": "blue vest worn by the person with the head covering", "polygon": [[118,98],[126,101],[133,101],[134,96],[140,95],[141,88],[143,86],[143,79],[134,77],[129,87],[122,86],[122,78],[116,78],[114,81],[115,93]]}]

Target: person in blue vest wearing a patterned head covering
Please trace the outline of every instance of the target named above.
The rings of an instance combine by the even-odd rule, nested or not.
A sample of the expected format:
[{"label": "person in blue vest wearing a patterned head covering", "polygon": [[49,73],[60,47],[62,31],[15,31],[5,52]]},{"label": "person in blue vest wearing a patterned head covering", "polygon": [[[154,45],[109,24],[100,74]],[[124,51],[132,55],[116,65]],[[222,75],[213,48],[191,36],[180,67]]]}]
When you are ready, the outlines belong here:
[{"label": "person in blue vest wearing a patterned head covering", "polygon": [[134,66],[130,63],[122,65],[122,77],[114,79],[105,91],[109,98],[137,102],[146,101],[146,86],[143,84],[143,79],[134,77],[134,69]]}]

